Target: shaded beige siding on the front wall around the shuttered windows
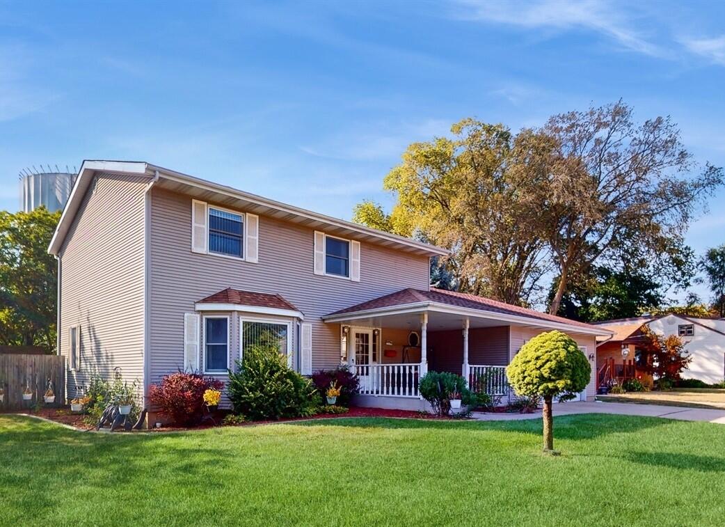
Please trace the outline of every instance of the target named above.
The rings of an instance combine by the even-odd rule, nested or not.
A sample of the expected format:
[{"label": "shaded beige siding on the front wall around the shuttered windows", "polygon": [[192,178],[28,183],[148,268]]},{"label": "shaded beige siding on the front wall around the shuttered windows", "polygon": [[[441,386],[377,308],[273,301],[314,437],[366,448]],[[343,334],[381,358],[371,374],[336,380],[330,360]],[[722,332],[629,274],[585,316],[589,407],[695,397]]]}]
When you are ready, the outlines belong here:
[{"label": "shaded beige siding on the front wall around the shuttered windows", "polygon": [[[183,313],[225,287],[279,293],[312,324],[312,369],[336,367],[339,325],[320,316],[394,293],[428,288],[428,257],[361,243],[360,282],[314,273],[314,229],[260,216],[259,261],[191,252],[191,197],[162,189],[151,200],[151,377],[183,366]],[[239,211],[245,212],[245,211]],[[233,332],[233,353],[239,331]]]}]

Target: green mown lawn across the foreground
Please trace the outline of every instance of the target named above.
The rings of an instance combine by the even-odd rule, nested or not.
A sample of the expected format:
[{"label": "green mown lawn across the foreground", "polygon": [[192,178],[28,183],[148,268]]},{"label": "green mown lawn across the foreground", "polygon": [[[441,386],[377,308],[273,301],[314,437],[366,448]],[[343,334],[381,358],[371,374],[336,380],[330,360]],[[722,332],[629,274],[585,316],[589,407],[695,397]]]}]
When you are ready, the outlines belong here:
[{"label": "green mown lawn across the foreground", "polygon": [[723,525],[725,427],[343,419],[101,435],[0,416],[2,525]]}]

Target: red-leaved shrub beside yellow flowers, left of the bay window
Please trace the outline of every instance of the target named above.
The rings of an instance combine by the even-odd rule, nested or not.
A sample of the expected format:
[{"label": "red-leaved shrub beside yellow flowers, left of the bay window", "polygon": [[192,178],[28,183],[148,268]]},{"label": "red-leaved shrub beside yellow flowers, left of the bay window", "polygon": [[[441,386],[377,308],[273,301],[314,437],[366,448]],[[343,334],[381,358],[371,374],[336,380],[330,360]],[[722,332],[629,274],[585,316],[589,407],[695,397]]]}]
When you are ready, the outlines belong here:
[{"label": "red-leaved shrub beside yellow flowers, left of the bay window", "polygon": [[177,425],[192,426],[204,413],[204,391],[221,390],[224,383],[199,373],[177,372],[165,375],[161,384],[149,387],[149,399],[159,414],[170,417]]}]

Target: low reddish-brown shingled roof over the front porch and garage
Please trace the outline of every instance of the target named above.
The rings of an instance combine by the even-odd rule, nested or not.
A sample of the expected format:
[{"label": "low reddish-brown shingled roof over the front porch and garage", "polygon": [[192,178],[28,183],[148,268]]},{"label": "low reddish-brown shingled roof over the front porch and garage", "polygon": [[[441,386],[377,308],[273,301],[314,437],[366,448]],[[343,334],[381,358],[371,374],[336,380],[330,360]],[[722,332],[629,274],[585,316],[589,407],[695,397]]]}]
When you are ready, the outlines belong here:
[{"label": "low reddish-brown shingled roof over the front porch and garage", "polygon": [[481,311],[486,314],[500,314],[507,317],[516,317],[521,322],[525,322],[529,319],[531,323],[538,323],[539,325],[566,325],[571,327],[573,330],[579,328],[584,332],[595,333],[600,335],[609,335],[609,330],[600,330],[597,332],[597,328],[591,324],[579,322],[576,320],[566,319],[563,316],[555,316],[540,311],[534,311],[533,309],[526,309],[519,306],[512,306],[511,304],[492,300],[491,298],[485,298],[477,295],[470,295],[468,293],[457,293],[455,291],[448,291],[443,289],[437,289],[431,287],[430,290],[420,290],[408,288],[404,290],[384,295],[373,300],[359,303],[355,306],[350,306],[346,309],[340,309],[334,313],[323,316],[323,319],[340,318],[343,315],[360,314],[366,311],[384,311],[386,309],[394,309],[402,306],[449,306],[451,308],[460,308],[465,310]]}]

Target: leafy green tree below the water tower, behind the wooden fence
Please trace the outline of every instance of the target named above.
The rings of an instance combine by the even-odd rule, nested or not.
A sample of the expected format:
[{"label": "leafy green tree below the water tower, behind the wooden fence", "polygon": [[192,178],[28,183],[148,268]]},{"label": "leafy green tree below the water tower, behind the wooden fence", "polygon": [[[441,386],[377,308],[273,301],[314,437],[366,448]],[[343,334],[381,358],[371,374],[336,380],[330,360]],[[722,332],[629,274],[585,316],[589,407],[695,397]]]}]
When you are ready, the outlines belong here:
[{"label": "leafy green tree below the water tower, behind the wooden fence", "polygon": [[56,347],[57,267],[48,245],[60,213],[0,211],[0,343]]}]

